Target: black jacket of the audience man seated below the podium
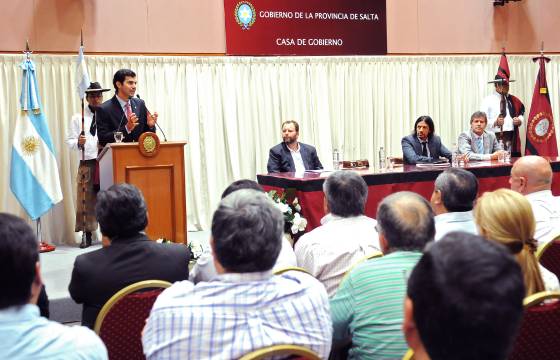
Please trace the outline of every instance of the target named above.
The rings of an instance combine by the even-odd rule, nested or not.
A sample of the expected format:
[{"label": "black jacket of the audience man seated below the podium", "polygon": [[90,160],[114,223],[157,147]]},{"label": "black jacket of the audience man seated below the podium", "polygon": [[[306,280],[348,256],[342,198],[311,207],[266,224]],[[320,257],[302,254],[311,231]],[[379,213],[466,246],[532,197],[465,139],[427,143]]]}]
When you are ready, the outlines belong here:
[{"label": "black jacket of the audience man seated below the podium", "polygon": [[186,246],[159,244],[144,234],[118,239],[108,247],[78,256],[68,290],[74,301],[84,304],[82,325],[93,328],[105,302],[130,284],[188,279],[189,259]]}]

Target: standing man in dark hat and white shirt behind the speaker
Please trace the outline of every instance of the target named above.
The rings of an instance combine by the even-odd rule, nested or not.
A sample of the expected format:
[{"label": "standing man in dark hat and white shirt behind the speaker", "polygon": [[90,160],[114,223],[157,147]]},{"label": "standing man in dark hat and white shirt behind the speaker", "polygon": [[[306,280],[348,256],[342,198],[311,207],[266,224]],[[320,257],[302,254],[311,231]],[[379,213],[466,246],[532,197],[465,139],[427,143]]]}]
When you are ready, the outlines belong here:
[{"label": "standing man in dark hat and white shirt behind the speaker", "polygon": [[97,229],[95,219],[95,199],[99,191],[97,169],[97,124],[96,109],[103,103],[103,89],[98,82],[90,83],[86,89],[83,123],[82,114],[74,114],[66,135],[66,144],[75,150],[80,161],[78,167],[78,197],[76,206],[76,225],[74,231],[82,231],[80,248],[91,246],[92,232]]}]

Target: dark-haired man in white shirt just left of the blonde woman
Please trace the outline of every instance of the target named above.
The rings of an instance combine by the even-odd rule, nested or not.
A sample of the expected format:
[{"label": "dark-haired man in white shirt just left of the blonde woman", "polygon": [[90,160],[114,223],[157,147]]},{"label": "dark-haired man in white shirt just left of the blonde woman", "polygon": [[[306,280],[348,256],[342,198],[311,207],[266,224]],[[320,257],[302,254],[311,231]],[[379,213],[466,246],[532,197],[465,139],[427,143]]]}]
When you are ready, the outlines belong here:
[{"label": "dark-haired man in white shirt just left of the blonde woman", "polygon": [[478,180],[470,171],[450,168],[439,174],[430,199],[436,223],[435,240],[452,231],[478,234],[472,209]]}]

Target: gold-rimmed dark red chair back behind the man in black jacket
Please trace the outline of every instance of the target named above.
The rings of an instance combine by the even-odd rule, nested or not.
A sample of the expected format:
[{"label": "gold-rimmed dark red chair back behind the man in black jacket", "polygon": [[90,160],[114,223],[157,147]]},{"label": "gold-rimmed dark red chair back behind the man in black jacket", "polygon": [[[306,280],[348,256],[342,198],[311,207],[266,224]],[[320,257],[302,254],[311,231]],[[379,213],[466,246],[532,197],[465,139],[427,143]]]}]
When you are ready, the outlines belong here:
[{"label": "gold-rimmed dark red chair back behind the man in black jacket", "polygon": [[140,281],[121,289],[103,305],[94,330],[111,360],[145,359],[142,329],[156,298],[169,286],[167,281]]}]

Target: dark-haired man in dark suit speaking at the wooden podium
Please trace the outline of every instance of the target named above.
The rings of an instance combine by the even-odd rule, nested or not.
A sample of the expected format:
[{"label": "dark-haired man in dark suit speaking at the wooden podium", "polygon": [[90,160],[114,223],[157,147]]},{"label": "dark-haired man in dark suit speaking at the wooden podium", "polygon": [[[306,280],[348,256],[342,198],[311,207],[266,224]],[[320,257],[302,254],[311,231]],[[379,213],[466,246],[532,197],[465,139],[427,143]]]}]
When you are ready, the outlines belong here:
[{"label": "dark-haired man in dark suit speaking at the wooden podium", "polygon": [[96,112],[99,145],[115,142],[114,133],[122,133],[122,141],[138,141],[145,132],[156,132],[157,112],[151,114],[143,100],[135,98],[136,74],[120,69],[113,76],[115,96],[105,101]]}]

